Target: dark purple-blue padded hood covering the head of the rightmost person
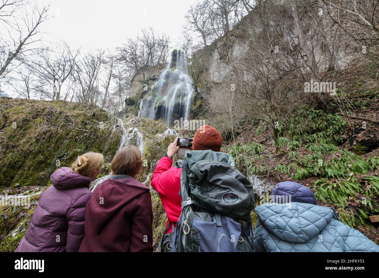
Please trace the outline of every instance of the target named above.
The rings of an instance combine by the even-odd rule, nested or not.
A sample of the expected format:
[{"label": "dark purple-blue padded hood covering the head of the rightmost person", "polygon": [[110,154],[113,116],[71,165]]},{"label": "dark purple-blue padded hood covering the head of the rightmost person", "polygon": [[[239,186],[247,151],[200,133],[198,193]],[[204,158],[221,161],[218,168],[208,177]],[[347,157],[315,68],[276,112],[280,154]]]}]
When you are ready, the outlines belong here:
[{"label": "dark purple-blue padded hood covering the head of the rightmost person", "polygon": [[317,205],[313,192],[297,182],[279,182],[273,189],[272,197],[276,203],[299,202]]}]

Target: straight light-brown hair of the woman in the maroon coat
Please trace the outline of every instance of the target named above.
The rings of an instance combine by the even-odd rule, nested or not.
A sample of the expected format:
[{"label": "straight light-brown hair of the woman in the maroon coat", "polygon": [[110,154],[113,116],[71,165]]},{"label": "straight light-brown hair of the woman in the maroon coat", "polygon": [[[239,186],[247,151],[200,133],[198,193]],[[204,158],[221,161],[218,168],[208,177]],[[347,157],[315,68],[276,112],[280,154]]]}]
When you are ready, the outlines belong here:
[{"label": "straight light-brown hair of the woman in the maroon coat", "polygon": [[141,170],[142,154],[136,146],[129,145],[121,149],[111,162],[114,175],[130,175],[134,177]]}]

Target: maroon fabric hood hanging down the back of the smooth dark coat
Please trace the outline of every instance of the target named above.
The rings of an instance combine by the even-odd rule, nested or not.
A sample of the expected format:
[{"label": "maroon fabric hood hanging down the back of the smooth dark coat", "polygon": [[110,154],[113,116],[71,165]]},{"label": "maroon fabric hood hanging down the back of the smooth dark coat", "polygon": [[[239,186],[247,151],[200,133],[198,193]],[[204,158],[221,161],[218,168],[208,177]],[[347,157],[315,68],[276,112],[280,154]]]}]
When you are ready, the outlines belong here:
[{"label": "maroon fabric hood hanging down the back of the smooth dark coat", "polygon": [[91,212],[89,221],[96,233],[99,234],[111,218],[125,208],[133,213],[136,202],[146,191],[150,189],[135,179],[109,179],[97,186],[86,207]]}]

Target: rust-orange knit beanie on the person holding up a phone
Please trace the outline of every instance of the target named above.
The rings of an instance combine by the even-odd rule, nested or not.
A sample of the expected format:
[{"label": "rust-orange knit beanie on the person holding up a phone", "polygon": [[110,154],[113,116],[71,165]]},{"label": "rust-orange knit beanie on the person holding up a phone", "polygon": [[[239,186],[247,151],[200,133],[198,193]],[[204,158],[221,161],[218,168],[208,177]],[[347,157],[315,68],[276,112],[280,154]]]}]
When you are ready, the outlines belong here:
[{"label": "rust-orange knit beanie on the person holding up a phone", "polygon": [[194,151],[212,150],[215,152],[219,152],[221,146],[221,134],[214,127],[205,124],[198,130],[196,130],[192,142],[192,149]]}]

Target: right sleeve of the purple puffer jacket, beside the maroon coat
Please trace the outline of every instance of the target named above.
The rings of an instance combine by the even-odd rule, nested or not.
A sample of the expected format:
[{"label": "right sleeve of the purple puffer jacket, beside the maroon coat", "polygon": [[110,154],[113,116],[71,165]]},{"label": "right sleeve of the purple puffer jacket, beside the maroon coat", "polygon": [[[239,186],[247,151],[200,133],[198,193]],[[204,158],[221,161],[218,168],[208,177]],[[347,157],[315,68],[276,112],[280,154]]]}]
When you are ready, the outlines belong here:
[{"label": "right sleeve of the purple puffer jacket, beside the maroon coat", "polygon": [[84,218],[86,205],[92,193],[85,193],[72,200],[71,207],[67,211],[66,219],[68,222],[66,252],[78,252],[81,241],[84,237]]}]

